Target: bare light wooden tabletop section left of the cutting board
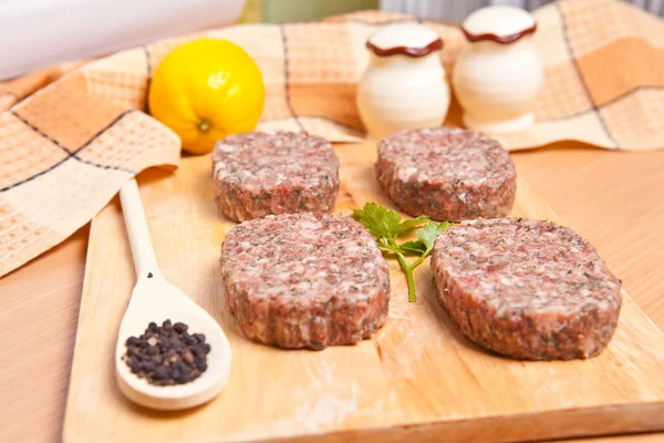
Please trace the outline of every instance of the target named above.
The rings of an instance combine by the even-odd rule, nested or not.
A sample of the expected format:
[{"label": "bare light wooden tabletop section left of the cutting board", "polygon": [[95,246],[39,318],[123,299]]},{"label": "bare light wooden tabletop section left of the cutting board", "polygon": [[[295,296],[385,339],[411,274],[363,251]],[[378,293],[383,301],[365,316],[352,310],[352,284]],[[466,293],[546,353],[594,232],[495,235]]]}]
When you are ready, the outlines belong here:
[{"label": "bare light wooden tabletop section left of the cutting board", "polygon": [[0,279],[0,442],[59,440],[89,231]]}]

